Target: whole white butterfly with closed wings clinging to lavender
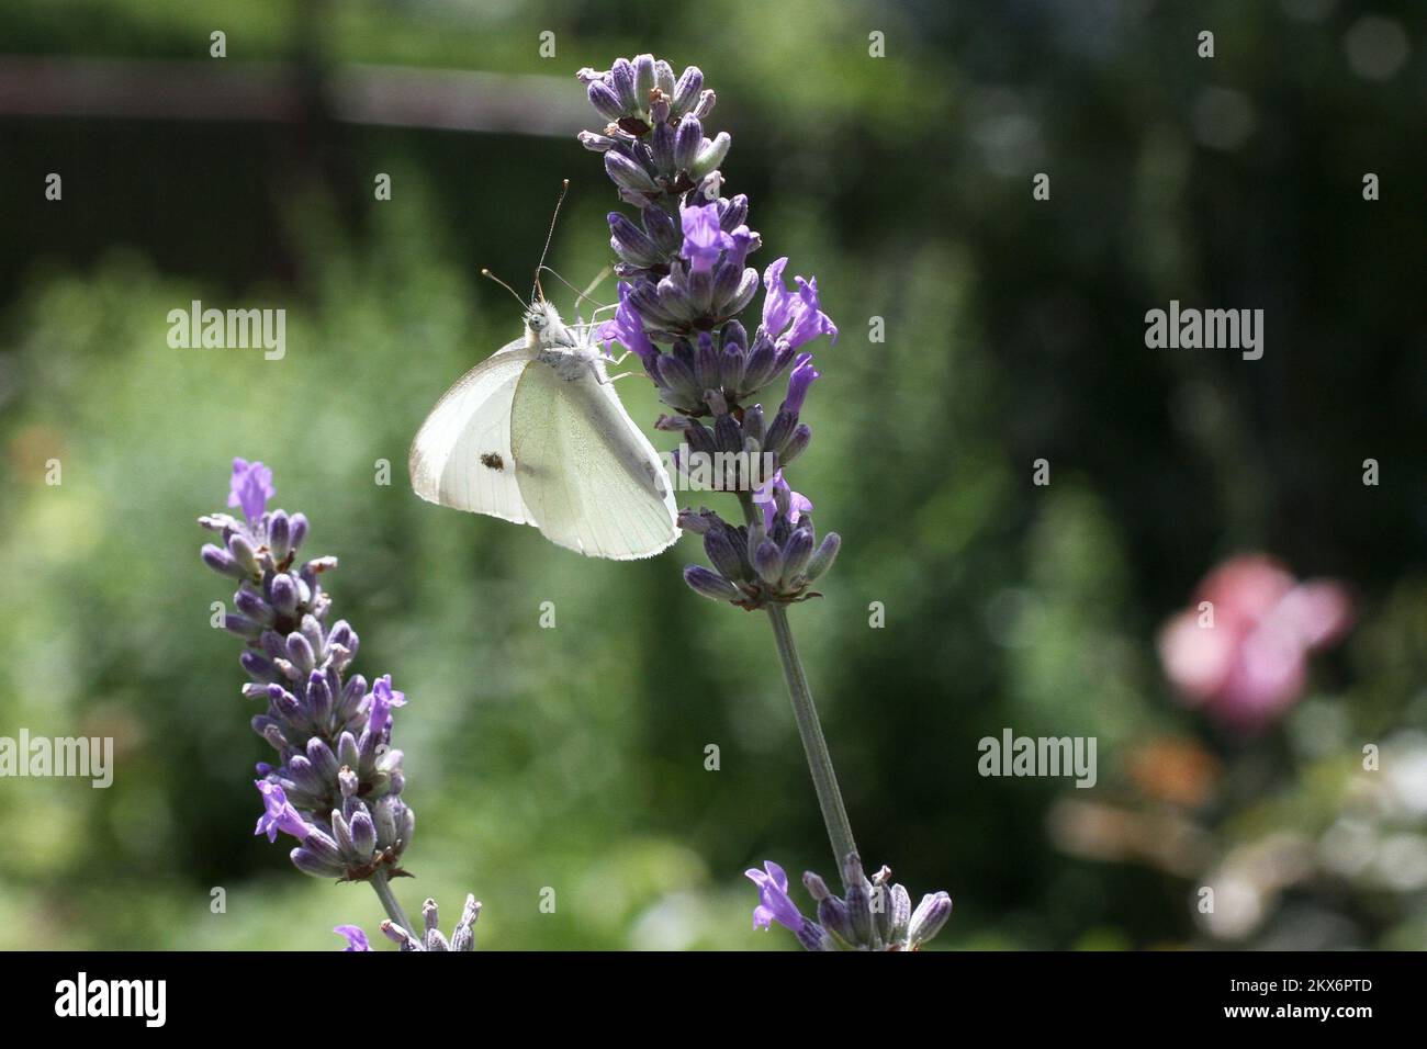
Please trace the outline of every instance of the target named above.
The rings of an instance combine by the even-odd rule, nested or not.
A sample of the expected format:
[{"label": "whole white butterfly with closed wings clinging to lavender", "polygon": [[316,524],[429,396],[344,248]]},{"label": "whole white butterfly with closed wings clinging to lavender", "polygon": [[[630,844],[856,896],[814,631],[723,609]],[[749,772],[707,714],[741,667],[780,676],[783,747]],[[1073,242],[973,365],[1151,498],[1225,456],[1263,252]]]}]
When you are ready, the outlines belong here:
[{"label": "whole white butterfly with closed wings clinging to lavender", "polygon": [[421,424],[408,462],[417,495],[535,525],[586,557],[674,545],[672,485],[615,394],[599,328],[532,304],[525,335],[465,373]]}]

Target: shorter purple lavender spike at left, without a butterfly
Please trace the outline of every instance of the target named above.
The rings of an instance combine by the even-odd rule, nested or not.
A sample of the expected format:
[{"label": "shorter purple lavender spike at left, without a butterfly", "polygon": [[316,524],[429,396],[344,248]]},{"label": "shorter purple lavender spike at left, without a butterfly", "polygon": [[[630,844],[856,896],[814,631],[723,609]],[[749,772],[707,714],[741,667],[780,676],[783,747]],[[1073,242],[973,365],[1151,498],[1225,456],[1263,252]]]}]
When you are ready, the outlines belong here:
[{"label": "shorter purple lavender spike at left, without a butterfly", "polygon": [[[307,518],[268,511],[275,491],[271,470],[234,460],[228,505],[241,507],[243,520],[198,518],[223,544],[203,548],[204,564],[238,584],[238,611],[223,625],[243,638],[238,662],[253,678],[243,695],[264,704],[253,731],[278,755],[275,765],[258,765],[255,833],[295,838],[288,856],[303,873],[370,882],[391,921],[405,926],[388,883],[407,873],[400,862],[415,829],[401,796],[402,754],[391,748],[391,712],[405,696],[390,675],[368,691],[367,679],[350,672],[360,639],[345,621],[328,625],[331,598],[321,584],[337,558],[298,561]],[[370,949],[361,929],[337,931],[348,949]]]}]

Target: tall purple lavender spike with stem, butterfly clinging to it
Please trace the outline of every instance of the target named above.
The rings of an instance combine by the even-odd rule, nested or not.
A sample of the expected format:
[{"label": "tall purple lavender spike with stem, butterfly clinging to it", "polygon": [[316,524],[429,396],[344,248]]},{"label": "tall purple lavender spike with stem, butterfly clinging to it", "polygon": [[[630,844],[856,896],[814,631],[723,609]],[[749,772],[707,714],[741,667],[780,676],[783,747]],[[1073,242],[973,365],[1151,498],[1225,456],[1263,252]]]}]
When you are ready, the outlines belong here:
[{"label": "tall purple lavender spike with stem, butterfly clinging to it", "polygon": [[[714,93],[704,87],[702,71],[689,67],[674,81],[668,63],[641,54],[632,61],[616,60],[605,73],[584,69],[578,77],[608,121],[601,131],[582,133],[579,141],[604,154],[619,198],[638,207],[641,220],[635,225],[624,216],[609,216],[619,313],[602,334],[639,354],[659,400],[674,410],[655,425],[684,435],[674,464],[681,477],[692,477],[695,455],[701,461],[751,455],[749,464],[756,460],[766,467],[716,467],[712,484],[705,485],[736,492],[743,524],[731,524],[706,508],[679,514],[679,527],[702,537],[711,564],[688,565],[684,579],[702,597],[768,614],[848,895],[835,901],[812,876],[821,886],[815,899],[823,928],[798,912],[788,896],[786,875],[768,862],[763,871],[748,871],[759,889],[753,925],[785,925],[809,949],[915,948],[940,928],[950,898],[940,893],[929,898],[933,902],[925,903],[925,912],[919,909],[920,939],[908,939],[912,913],[900,886],[888,889],[898,918],[873,919],[873,885],[856,862],[852,828],[786,611],[789,604],[816,597],[809,585],[832,567],[842,542],[836,532],[816,541],[812,501],[783,480],[783,468],[812,440],[799,415],[819,377],[811,354],[798,348],[819,335],[836,343],[838,325],[822,310],[816,278],[796,277],[793,288],[783,284],[786,257],[763,271],[762,323],[753,335],[738,321],[758,291],[758,273],[746,260],[762,240],[748,225],[748,198],[722,196],[718,166],[731,140],[726,133],[712,140],[705,136]],[[788,395],[766,420],[758,392],[789,370]],[[712,425],[702,421],[706,418]]]}]

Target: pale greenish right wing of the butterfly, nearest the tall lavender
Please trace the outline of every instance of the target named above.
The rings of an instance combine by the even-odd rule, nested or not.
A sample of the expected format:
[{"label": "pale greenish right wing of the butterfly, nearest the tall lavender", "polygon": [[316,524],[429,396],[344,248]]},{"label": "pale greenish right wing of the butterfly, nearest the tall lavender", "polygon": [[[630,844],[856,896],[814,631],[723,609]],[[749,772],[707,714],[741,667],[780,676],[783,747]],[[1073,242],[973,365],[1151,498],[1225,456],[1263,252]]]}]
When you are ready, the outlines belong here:
[{"label": "pale greenish right wing of the butterfly, nearest the tall lavender", "polygon": [[551,542],[629,561],[678,539],[659,455],[602,370],[565,378],[535,360],[515,387],[511,451],[521,498]]}]

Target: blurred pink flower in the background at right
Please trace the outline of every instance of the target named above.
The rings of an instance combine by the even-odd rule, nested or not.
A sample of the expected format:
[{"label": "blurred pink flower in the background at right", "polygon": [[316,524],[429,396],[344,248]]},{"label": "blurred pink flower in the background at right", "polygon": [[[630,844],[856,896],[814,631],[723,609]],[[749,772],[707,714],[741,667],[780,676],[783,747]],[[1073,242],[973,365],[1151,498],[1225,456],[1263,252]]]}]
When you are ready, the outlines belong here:
[{"label": "blurred pink flower in the background at right", "polygon": [[1270,557],[1240,555],[1210,572],[1194,607],[1160,631],[1160,662],[1186,706],[1251,735],[1297,701],[1309,652],[1336,642],[1351,621],[1339,582],[1299,582]]}]

